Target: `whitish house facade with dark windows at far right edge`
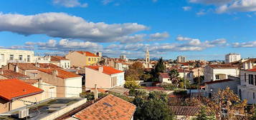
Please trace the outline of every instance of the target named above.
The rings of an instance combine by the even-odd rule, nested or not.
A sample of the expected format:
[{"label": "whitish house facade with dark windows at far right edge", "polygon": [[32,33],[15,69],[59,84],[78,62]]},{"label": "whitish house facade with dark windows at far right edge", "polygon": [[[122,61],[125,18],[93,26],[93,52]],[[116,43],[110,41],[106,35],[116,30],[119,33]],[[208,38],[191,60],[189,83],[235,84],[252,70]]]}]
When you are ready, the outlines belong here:
[{"label": "whitish house facade with dark windows at far right edge", "polygon": [[256,71],[240,71],[241,85],[237,86],[238,95],[248,104],[256,104]]}]

